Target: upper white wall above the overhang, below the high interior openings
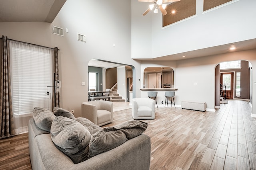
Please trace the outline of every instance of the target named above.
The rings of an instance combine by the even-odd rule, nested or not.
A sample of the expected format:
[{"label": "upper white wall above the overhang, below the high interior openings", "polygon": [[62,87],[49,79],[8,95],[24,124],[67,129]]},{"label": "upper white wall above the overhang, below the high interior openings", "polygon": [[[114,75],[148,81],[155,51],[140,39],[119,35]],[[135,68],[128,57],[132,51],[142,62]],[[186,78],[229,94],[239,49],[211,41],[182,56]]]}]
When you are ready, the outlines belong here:
[{"label": "upper white wall above the overhang, below the high interior openings", "polygon": [[142,16],[148,3],[132,0],[136,11],[132,15],[132,58],[156,58],[256,38],[255,0],[238,0],[204,14],[203,0],[196,0],[196,6],[196,17],[162,28],[160,11]]}]

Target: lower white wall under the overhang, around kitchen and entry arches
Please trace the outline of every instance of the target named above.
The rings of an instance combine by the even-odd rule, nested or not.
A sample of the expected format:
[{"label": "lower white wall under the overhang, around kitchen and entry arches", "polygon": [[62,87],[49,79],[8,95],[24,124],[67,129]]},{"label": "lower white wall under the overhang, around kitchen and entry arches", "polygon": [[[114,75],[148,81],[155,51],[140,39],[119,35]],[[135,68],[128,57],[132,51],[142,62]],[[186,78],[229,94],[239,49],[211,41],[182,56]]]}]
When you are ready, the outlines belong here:
[{"label": "lower white wall under the overhang, around kitchen and entry arches", "polygon": [[[252,81],[256,82],[256,49],[186,59],[180,61],[158,61],[156,63],[143,61],[141,72],[148,66],[170,66],[174,70],[175,104],[180,106],[182,100],[206,102],[207,109],[215,108],[215,66],[225,61],[246,60],[252,64]],[[196,85],[195,85],[196,83]],[[141,86],[143,83],[141,84]],[[252,87],[252,113],[256,114],[256,84]],[[146,91],[141,91],[141,96],[146,97]],[[158,92],[157,102],[164,100],[164,93]]]}]

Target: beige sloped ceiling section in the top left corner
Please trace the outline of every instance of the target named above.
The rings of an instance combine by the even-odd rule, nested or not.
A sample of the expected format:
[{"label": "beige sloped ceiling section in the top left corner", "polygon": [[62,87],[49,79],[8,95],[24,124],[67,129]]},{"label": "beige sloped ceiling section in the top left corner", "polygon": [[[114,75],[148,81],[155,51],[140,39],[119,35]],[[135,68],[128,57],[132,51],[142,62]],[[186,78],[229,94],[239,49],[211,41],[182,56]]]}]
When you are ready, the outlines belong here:
[{"label": "beige sloped ceiling section in the top left corner", "polygon": [[66,0],[1,0],[0,22],[52,23]]}]

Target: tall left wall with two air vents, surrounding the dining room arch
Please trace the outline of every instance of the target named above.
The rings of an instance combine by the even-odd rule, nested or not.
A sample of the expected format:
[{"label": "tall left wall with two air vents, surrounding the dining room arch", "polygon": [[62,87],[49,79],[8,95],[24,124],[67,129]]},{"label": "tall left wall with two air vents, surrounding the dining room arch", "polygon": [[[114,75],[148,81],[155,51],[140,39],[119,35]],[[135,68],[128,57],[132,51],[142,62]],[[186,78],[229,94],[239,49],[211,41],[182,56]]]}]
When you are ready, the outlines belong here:
[{"label": "tall left wall with two air vents, surrounding the dining room arch", "polygon": [[[52,34],[52,25],[64,28],[64,36]],[[68,33],[65,32],[66,28]],[[77,33],[86,35],[86,43],[77,41]],[[60,106],[68,110],[74,109],[76,117],[81,115],[81,103],[88,101],[88,62],[91,59],[134,66],[134,81],[139,84],[140,62],[130,57],[130,1],[67,0],[52,24],[0,23],[0,34],[28,43],[59,47],[62,83]],[[113,47],[113,43],[116,47]],[[81,86],[81,82],[86,82],[86,85]],[[140,97],[139,88],[134,88],[134,91],[136,97]]]}]

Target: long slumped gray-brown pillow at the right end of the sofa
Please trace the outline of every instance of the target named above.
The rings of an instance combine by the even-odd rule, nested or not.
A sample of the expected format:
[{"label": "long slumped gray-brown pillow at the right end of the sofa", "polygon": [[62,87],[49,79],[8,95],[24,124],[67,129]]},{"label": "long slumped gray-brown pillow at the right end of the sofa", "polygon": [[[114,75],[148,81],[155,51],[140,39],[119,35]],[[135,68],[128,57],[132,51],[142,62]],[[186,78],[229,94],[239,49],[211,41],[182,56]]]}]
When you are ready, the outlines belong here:
[{"label": "long slumped gray-brown pillow at the right end of the sofa", "polygon": [[148,123],[138,120],[128,121],[115,127],[104,127],[92,135],[88,158],[122,145],[128,139],[142,134],[147,127]]}]

